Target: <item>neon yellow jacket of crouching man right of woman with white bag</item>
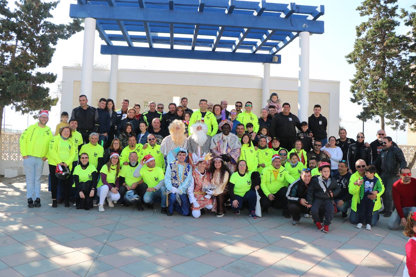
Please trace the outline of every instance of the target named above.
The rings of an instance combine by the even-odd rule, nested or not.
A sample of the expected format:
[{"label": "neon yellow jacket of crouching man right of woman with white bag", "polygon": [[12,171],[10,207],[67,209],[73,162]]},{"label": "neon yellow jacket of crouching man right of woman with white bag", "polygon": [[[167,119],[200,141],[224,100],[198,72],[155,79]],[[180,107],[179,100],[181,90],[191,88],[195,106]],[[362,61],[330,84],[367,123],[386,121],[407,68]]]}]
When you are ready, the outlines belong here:
[{"label": "neon yellow jacket of crouching man right of woman with white bag", "polygon": [[282,166],[280,166],[279,173],[277,174],[277,178],[275,179],[275,175],[273,174],[273,171],[275,170],[276,169],[270,164],[260,173],[260,187],[266,196],[268,196],[269,194],[275,194],[282,187],[288,186],[296,180],[290,175],[290,173],[285,169],[285,167]]}]

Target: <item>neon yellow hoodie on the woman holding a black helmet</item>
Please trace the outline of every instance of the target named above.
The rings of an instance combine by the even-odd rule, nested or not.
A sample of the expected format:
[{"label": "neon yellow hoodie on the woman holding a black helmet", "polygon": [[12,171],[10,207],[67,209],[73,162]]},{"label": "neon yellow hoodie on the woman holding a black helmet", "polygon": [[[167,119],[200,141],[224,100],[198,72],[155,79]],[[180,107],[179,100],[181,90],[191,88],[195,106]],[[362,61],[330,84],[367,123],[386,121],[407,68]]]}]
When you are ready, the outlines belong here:
[{"label": "neon yellow hoodie on the woman holding a black helmet", "polygon": [[[69,149],[62,149],[62,145],[68,145]],[[47,154],[48,164],[57,165],[60,162],[65,162],[68,165],[69,170],[71,170],[72,162],[77,159],[77,147],[78,146],[75,145],[71,139],[64,141],[61,135],[54,136],[49,143],[49,152]],[[65,160],[62,160],[62,153],[64,153],[64,150],[69,152],[69,155],[67,155]]]}]

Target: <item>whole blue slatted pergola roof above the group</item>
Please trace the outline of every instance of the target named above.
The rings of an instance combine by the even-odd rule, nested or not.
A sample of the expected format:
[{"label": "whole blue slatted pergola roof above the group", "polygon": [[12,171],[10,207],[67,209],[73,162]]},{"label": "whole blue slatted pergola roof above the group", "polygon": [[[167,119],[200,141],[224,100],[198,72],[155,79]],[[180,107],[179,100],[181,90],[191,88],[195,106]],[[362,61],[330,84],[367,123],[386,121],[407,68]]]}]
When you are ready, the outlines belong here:
[{"label": "whole blue slatted pergola roof above the group", "polygon": [[240,0],[77,0],[96,19],[101,54],[279,64],[300,32],[322,34],[324,6]]}]

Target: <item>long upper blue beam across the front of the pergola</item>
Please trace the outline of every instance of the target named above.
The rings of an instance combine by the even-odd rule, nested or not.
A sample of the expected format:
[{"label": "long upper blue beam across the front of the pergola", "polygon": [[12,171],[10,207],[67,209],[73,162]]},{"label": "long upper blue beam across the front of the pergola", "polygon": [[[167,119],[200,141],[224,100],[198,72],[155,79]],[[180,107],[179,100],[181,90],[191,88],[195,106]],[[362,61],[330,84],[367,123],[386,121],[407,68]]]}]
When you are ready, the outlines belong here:
[{"label": "long upper blue beam across the front of the pergola", "polygon": [[[230,16],[225,13],[214,12],[203,12],[201,14],[201,12],[183,10],[140,9],[134,7],[71,4],[69,16],[72,18],[93,17],[100,20],[141,21],[146,23],[162,22],[190,25],[213,25],[215,22],[215,25],[223,27],[241,27],[265,30],[274,29],[285,32],[307,31],[311,34],[323,34],[324,32],[324,22],[317,20],[262,16],[253,17],[253,15],[238,14]],[[304,27],[305,24],[307,25],[306,28]],[[149,28],[147,28],[147,30],[149,31]]]}]

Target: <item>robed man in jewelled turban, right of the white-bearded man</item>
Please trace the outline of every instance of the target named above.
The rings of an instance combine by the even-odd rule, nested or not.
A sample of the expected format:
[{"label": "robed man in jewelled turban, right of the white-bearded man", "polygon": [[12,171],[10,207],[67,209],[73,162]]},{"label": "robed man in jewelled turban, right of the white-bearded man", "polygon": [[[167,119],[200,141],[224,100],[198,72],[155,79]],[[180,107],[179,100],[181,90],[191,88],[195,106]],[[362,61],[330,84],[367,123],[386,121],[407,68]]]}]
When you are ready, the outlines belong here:
[{"label": "robed man in jewelled turban, right of the white-bearded man", "polygon": [[231,174],[237,170],[237,161],[241,154],[241,142],[236,135],[230,133],[232,128],[233,123],[230,120],[218,124],[222,133],[214,135],[210,145],[213,156],[221,156]]}]

